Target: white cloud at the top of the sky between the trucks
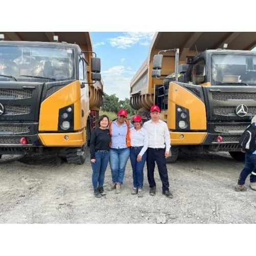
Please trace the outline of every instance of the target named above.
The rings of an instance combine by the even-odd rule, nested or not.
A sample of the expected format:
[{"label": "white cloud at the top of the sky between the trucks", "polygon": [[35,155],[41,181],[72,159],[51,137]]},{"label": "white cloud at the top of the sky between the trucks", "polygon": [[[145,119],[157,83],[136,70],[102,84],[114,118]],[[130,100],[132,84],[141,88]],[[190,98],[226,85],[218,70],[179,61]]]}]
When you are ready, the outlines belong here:
[{"label": "white cloud at the top of the sky between the trucks", "polygon": [[130,48],[139,44],[148,46],[151,44],[155,32],[126,32],[123,36],[109,38],[111,46],[121,49]]}]

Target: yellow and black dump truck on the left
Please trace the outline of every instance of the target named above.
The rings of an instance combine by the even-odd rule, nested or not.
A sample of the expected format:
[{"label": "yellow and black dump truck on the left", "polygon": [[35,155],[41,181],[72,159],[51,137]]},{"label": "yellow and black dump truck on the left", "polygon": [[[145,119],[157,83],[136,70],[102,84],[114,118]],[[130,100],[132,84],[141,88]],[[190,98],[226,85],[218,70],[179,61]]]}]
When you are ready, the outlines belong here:
[{"label": "yellow and black dump truck on the left", "polygon": [[103,103],[89,32],[0,32],[0,156],[83,164]]}]

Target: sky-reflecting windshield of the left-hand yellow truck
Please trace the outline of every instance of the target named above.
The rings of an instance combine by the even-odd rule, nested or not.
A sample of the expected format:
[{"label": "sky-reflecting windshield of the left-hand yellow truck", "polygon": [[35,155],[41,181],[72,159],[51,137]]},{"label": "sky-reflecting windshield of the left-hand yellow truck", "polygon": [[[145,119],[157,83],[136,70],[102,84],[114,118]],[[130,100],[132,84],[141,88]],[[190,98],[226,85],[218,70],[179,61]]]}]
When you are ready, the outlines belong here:
[{"label": "sky-reflecting windshield of the left-hand yellow truck", "polygon": [[74,56],[71,48],[0,46],[0,78],[74,79]]}]

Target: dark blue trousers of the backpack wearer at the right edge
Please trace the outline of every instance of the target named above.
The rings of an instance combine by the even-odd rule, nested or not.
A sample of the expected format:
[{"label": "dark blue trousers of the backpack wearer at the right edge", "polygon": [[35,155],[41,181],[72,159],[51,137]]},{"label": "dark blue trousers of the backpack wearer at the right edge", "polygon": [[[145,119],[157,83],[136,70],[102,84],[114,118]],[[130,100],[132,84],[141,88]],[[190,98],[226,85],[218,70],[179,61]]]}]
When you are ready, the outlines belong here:
[{"label": "dark blue trousers of the backpack wearer at the right edge", "polygon": [[238,184],[244,185],[249,174],[250,182],[256,182],[256,155],[245,153],[245,167],[239,176]]}]

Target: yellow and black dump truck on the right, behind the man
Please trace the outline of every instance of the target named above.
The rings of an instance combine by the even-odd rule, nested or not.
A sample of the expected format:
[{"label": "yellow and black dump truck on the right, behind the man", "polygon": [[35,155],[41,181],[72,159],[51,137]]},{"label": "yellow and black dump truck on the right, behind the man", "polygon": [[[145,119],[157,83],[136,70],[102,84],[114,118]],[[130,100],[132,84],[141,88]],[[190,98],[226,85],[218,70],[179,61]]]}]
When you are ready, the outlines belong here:
[{"label": "yellow and black dump truck on the right, behind the man", "polygon": [[157,32],[131,81],[132,107],[147,120],[153,104],[170,131],[169,162],[180,151],[227,151],[256,115],[256,32]]}]

